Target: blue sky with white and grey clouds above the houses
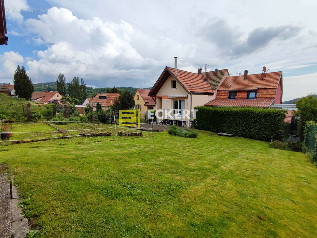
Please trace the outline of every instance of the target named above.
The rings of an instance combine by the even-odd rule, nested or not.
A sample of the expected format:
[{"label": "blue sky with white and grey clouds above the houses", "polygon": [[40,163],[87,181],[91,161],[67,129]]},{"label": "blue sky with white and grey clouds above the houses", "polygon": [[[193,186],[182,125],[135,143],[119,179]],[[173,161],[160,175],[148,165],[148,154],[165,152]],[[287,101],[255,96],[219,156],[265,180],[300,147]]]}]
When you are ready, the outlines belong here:
[{"label": "blue sky with white and grey clouds above the houses", "polygon": [[283,100],[317,93],[316,1],[4,0],[0,82],[152,87],[165,66],[283,71]]}]

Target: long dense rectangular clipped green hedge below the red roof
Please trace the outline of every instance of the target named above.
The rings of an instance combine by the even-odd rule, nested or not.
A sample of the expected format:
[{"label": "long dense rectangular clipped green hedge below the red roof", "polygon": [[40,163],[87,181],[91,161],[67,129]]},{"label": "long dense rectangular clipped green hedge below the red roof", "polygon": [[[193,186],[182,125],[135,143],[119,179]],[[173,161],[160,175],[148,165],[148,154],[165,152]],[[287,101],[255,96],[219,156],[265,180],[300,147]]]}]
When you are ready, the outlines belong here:
[{"label": "long dense rectangular clipped green hedge below the red roof", "polygon": [[197,129],[270,141],[283,138],[285,110],[248,107],[195,107]]}]

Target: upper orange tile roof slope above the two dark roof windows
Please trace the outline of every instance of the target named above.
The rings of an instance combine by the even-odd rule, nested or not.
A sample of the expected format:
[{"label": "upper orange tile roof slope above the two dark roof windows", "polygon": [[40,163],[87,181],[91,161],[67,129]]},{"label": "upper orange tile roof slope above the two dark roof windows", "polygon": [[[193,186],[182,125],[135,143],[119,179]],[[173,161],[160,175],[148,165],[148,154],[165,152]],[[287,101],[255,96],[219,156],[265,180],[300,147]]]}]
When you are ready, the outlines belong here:
[{"label": "upper orange tile roof slope above the two dark roof windows", "polygon": [[[249,74],[247,80],[244,75],[227,77],[218,90],[250,90],[260,88],[277,88],[282,72],[266,73],[266,78],[261,80],[261,74]],[[230,86],[231,85],[231,86]]]}]

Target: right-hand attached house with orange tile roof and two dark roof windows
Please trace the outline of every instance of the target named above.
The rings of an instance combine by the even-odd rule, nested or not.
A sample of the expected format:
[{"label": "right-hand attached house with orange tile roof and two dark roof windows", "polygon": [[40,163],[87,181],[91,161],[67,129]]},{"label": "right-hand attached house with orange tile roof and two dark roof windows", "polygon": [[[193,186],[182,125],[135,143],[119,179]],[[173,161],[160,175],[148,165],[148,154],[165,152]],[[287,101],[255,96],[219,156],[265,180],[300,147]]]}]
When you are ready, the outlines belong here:
[{"label": "right-hand attached house with orange tile roof and two dark roof windows", "polygon": [[205,106],[263,107],[269,108],[274,103],[282,103],[282,72],[249,74],[227,77],[219,86],[217,96]]}]

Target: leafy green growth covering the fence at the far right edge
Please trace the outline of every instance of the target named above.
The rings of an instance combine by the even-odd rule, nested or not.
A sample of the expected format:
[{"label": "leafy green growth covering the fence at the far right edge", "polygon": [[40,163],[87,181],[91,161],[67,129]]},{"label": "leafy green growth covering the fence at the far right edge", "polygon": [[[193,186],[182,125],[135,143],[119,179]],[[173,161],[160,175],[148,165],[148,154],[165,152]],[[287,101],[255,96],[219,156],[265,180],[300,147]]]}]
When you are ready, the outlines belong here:
[{"label": "leafy green growth covering the fence at the far right edge", "polygon": [[314,161],[317,161],[317,123],[314,121],[306,121],[304,128],[304,141],[306,146],[304,151],[308,151]]}]

